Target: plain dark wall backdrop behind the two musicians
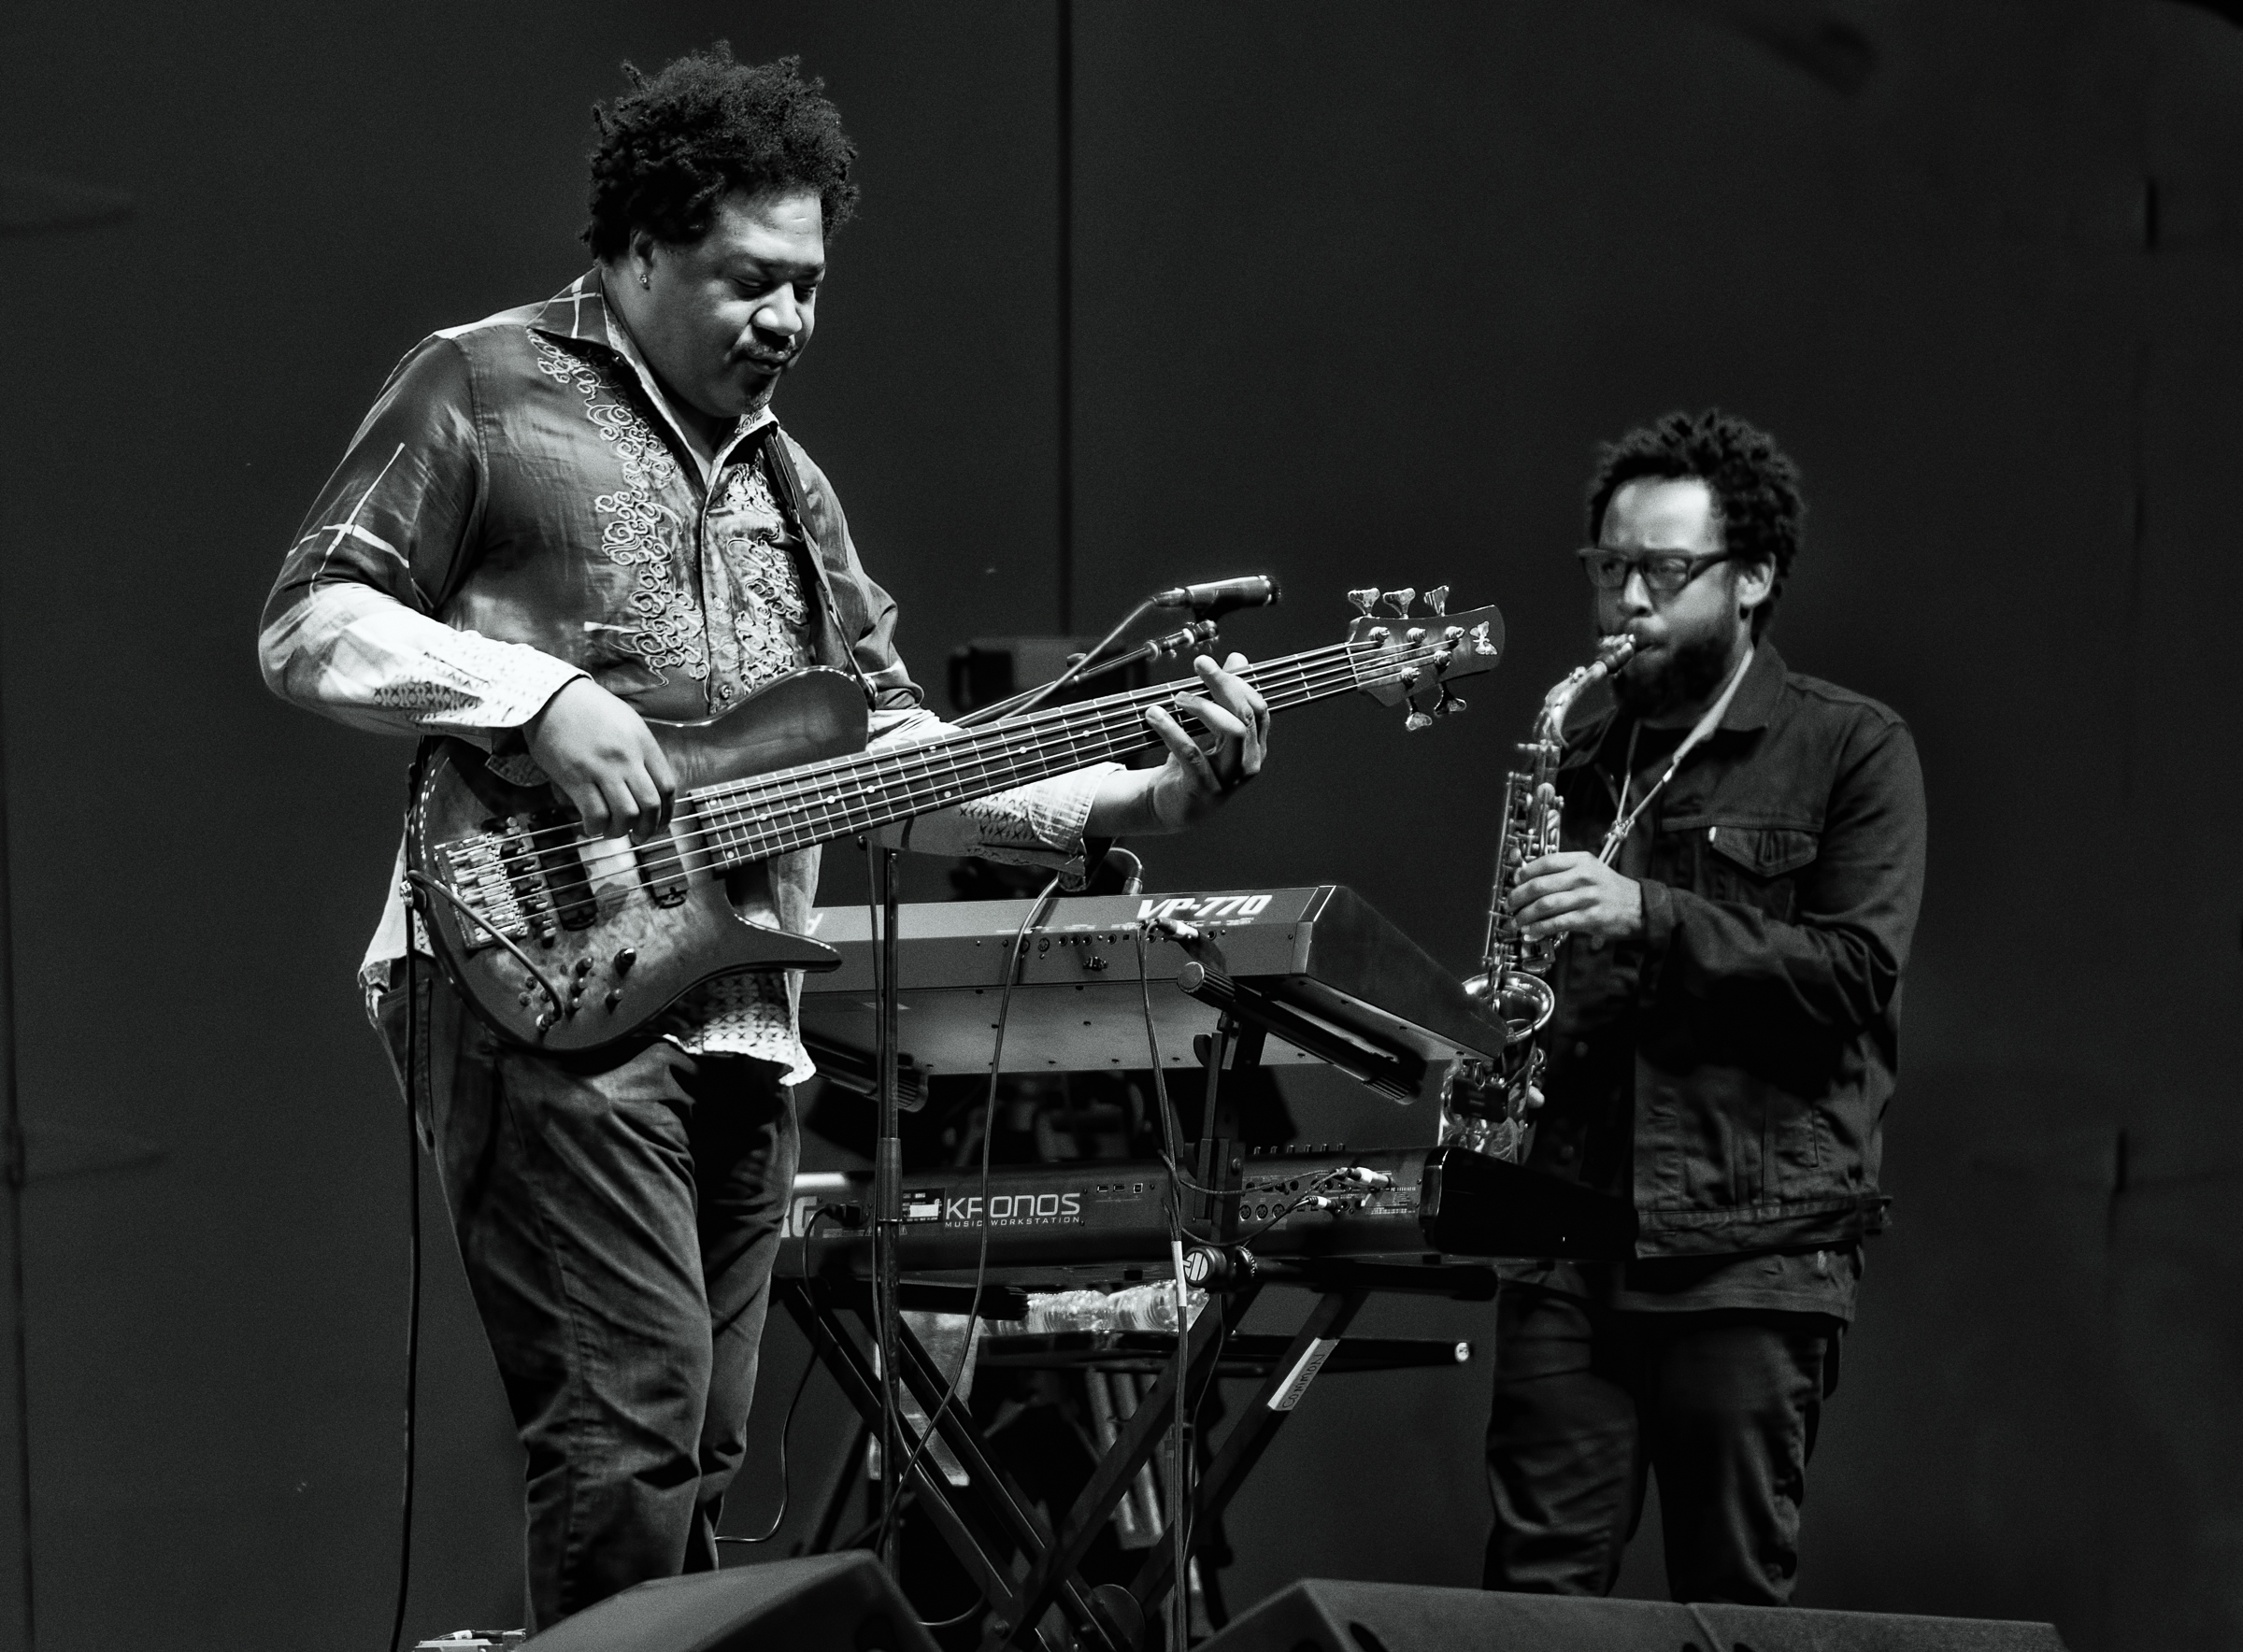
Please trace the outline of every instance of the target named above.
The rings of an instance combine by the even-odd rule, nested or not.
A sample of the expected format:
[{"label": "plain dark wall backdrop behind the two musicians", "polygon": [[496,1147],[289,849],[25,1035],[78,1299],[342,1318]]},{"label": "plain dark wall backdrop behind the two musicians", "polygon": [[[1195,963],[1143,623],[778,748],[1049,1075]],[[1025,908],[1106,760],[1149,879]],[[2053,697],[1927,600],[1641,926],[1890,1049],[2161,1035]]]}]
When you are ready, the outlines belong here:
[{"label": "plain dark wall backdrop behind the two musicians", "polygon": [[[1151,847],[1155,883],[1348,881],[1462,968],[1510,742],[1586,646],[1593,442],[1709,401],[1774,428],[1815,507],[1774,637],[1909,717],[1933,811],[1898,1224],[1799,1598],[2232,1643],[2243,34],[2164,0],[1139,0],[1074,27],[1079,623],[1272,569],[1287,605],[1229,623],[1254,652],[1328,641],[1370,583],[1512,628],[1431,733],[1368,704],[1281,726],[1261,787]],[[969,634],[1056,625],[1050,4],[0,20],[0,164],[137,199],[0,244],[47,1645],[388,1630],[406,1148],[350,975],[406,751],[267,699],[253,621],[388,365],[583,262],[617,61],[718,34],[805,52],[864,146],[783,412],[940,681]],[[1299,1110],[1422,1127],[1344,1083]],[[415,1634],[518,1621],[511,1444],[433,1237]],[[1469,1583],[1480,1383],[1321,1385],[1236,1506],[1234,1596]],[[799,1466],[839,1428],[812,1394]],[[1628,1589],[1658,1589],[1651,1547]]]}]

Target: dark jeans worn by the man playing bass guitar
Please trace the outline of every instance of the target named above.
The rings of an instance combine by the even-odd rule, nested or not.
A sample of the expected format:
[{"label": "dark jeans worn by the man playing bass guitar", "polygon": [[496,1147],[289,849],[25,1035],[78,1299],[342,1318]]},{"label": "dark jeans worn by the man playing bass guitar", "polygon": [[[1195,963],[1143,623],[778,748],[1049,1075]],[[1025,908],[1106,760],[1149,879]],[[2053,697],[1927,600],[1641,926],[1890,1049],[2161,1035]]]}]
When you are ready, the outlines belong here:
[{"label": "dark jeans worn by the man playing bass guitar", "polygon": [[[709,1571],[740,1468],[794,1101],[769,1062],[500,1045],[422,959],[413,1087],[527,1464],[529,1627]],[[375,1004],[404,1069],[406,991]]]}]

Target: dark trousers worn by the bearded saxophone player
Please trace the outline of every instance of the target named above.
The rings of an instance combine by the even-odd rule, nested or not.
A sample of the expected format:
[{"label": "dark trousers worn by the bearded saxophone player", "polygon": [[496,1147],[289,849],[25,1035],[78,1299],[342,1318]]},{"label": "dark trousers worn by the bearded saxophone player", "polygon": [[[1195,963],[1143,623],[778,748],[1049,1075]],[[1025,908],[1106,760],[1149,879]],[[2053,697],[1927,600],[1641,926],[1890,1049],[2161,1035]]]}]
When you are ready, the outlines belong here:
[{"label": "dark trousers worn by the bearded saxophone player", "polygon": [[1655,1473],[1673,1598],[1788,1605],[1837,1334],[1821,1314],[1628,1314],[1503,1287],[1483,1587],[1610,1594]]}]

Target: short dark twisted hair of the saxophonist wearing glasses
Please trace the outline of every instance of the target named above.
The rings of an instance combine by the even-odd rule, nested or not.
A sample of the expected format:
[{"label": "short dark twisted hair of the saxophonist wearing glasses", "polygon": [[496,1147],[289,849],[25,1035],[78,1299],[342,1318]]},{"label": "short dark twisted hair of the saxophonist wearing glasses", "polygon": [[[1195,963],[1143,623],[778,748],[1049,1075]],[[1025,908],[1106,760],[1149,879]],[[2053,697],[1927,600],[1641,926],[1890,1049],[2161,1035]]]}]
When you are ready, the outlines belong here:
[{"label": "short dark twisted hair of the saxophonist wearing glasses", "polygon": [[1720,408],[1698,417],[1669,412],[1597,448],[1597,475],[1588,484],[1588,542],[1604,531],[1604,507],[1628,482],[1705,482],[1720,520],[1720,542],[1741,563],[1774,563],[1776,581],[1767,601],[1752,610],[1752,634],[1767,628],[1783,594],[1783,581],[1799,556],[1799,529],[1808,513],[1799,498],[1799,466],[1776,439]]}]

